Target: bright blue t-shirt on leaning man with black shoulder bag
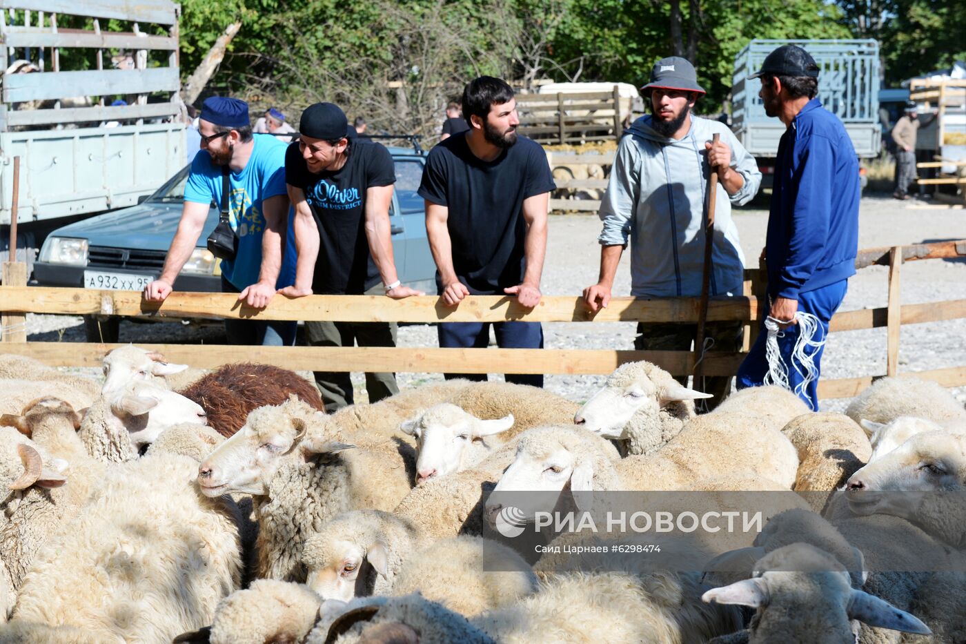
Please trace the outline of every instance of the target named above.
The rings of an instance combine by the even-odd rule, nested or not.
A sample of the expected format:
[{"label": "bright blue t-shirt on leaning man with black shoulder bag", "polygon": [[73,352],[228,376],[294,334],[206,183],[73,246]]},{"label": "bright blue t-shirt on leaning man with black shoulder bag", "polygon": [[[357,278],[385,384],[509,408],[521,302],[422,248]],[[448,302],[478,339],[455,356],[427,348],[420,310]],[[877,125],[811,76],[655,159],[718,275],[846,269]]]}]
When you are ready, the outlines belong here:
[{"label": "bright blue t-shirt on leaning man with black shoulder bag", "polygon": [[[262,266],[262,233],[265,216],[262,201],[287,194],[285,186],[285,149],[287,145],[270,134],[254,134],[255,147],[241,172],[228,175],[231,194],[228,197],[228,219],[239,236],[235,259],[221,260],[221,275],[239,290],[258,281]],[[211,155],[199,150],[191,161],[191,173],[185,185],[185,201],[211,203],[221,208],[221,167],[214,165]],[[289,208],[288,230],[282,268],[276,288],[290,286],[296,277],[295,233],[292,228],[295,211]]]}]

